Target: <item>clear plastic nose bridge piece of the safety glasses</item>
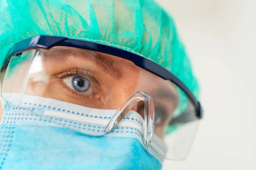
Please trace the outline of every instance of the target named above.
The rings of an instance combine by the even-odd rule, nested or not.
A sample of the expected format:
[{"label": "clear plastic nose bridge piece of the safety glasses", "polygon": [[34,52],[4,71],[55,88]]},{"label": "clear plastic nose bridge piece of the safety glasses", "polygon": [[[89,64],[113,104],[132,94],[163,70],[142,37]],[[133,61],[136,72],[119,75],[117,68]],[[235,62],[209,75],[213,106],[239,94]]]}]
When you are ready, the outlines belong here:
[{"label": "clear plastic nose bridge piece of the safety glasses", "polygon": [[133,95],[131,95],[126,102],[124,102],[117,110],[116,114],[112,117],[110,122],[105,128],[105,134],[111,132],[116,125],[122,121],[122,119],[125,117],[125,115],[131,111],[131,109],[134,107],[134,105],[139,102],[144,101],[145,109],[144,109],[144,142],[146,150],[151,153],[149,147],[151,140],[153,138],[154,134],[154,103],[152,97],[142,91],[136,92]]}]

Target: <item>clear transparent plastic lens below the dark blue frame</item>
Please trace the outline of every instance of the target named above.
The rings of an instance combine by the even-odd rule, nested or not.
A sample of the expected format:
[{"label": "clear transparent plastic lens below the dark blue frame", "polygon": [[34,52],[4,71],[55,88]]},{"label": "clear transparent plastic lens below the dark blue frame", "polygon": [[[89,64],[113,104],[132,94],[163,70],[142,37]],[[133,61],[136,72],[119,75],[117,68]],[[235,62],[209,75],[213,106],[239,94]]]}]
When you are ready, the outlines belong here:
[{"label": "clear transparent plastic lens below the dark blue frame", "polygon": [[[81,108],[66,114],[57,108],[52,110],[54,102],[51,107],[46,106],[45,115],[41,116],[46,116],[45,119],[54,116],[51,121],[61,126],[66,126],[64,121],[60,123],[55,119],[79,125],[83,119],[93,123],[95,117],[89,114],[92,109],[108,112],[111,116],[101,116],[105,129],[99,130],[98,136],[112,130],[115,123],[122,124],[126,114],[137,114],[134,125],[141,125],[138,128],[144,135],[146,149],[162,158],[183,159],[197,129],[195,108],[180,88],[131,61],[100,52],[53,47],[13,56],[6,71],[2,96],[16,104],[26,102],[28,95]],[[93,136],[93,131],[78,127],[69,128]]]}]

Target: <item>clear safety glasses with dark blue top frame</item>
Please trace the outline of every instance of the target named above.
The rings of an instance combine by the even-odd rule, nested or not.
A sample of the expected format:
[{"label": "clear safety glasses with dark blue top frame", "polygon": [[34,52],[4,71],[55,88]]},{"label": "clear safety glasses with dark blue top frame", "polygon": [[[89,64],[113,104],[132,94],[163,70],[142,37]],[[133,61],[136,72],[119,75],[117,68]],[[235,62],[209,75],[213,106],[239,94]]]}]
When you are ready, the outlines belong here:
[{"label": "clear safety glasses with dark blue top frame", "polygon": [[[2,71],[1,95],[6,101],[22,105],[28,96],[38,96],[79,105],[82,110],[73,112],[59,110],[52,102],[50,107],[39,106],[44,109],[39,116],[90,136],[135,128],[145,149],[160,158],[184,159],[202,117],[200,103],[172,73],[140,54],[110,45],[32,37],[13,46]],[[82,122],[92,128],[79,126]],[[99,124],[104,129],[97,129]]]}]

